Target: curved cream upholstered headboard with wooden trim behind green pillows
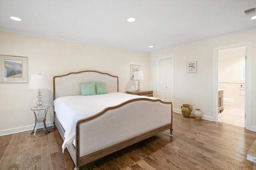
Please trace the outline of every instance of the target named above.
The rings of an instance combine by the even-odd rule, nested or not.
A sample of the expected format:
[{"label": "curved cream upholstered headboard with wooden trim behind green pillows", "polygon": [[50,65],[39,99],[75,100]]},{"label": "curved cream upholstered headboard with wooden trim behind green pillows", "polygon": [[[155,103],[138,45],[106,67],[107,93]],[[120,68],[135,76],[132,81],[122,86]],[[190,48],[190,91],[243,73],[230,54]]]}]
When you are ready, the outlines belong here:
[{"label": "curved cream upholstered headboard with wooden trim behind green pillows", "polygon": [[86,70],[70,72],[61,76],[53,77],[53,100],[63,96],[78,96],[81,94],[79,83],[104,82],[106,90],[118,92],[118,76],[108,73]]}]

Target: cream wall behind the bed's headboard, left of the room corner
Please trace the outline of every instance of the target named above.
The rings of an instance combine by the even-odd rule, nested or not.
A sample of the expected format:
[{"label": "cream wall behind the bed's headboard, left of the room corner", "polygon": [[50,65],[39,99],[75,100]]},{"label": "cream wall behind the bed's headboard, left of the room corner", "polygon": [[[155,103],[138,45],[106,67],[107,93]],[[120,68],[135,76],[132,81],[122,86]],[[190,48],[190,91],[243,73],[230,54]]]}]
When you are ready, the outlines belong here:
[{"label": "cream wall behind the bed's headboard, left of the room corner", "polygon": [[[119,77],[119,91],[126,92],[135,90],[136,83],[130,80],[130,64],[138,64],[144,71],[141,88],[150,89],[148,53],[0,31],[0,54],[28,57],[29,78],[38,73],[49,76],[50,88],[42,90],[42,101],[50,106],[47,122],[53,121],[55,75],[81,70],[108,72]],[[34,124],[30,108],[36,105],[37,90],[28,89],[28,85],[29,82],[0,82],[0,132]]]}]

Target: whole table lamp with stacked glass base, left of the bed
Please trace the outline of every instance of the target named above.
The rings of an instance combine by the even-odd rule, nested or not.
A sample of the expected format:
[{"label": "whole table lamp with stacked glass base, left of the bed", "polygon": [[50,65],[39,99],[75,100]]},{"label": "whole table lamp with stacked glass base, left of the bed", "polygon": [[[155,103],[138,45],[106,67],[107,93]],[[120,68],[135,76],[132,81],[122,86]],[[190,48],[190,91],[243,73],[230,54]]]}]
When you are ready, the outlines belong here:
[{"label": "whole table lamp with stacked glass base, left of the bed", "polygon": [[37,107],[42,107],[43,102],[41,100],[41,98],[43,96],[41,96],[41,89],[43,88],[48,88],[49,86],[49,82],[48,82],[48,76],[47,75],[41,75],[41,74],[32,74],[30,76],[30,83],[29,83],[29,88],[30,89],[38,89],[38,96],[36,96],[38,98],[38,102]]}]

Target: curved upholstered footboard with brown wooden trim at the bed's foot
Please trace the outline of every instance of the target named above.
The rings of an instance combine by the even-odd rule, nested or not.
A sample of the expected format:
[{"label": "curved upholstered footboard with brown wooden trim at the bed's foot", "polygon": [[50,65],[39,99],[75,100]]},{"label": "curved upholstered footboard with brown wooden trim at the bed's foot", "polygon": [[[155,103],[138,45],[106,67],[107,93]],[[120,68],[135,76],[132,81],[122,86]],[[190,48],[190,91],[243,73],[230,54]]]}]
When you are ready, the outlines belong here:
[{"label": "curved upholstered footboard with brown wooden trim at the bed's foot", "polygon": [[76,125],[76,168],[170,129],[172,103],[128,100],[82,119]]}]

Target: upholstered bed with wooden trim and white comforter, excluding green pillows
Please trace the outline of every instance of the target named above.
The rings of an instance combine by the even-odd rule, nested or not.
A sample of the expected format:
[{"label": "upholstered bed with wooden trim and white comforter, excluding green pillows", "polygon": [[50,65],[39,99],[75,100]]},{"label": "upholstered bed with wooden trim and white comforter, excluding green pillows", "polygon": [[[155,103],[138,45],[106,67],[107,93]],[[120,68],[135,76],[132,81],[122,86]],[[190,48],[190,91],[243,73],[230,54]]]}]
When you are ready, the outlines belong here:
[{"label": "upholstered bed with wooden trim and white comforter, excluding green pillows", "polygon": [[[79,83],[104,82],[108,94],[80,96]],[[53,78],[54,127],[75,169],[170,129],[172,103],[118,92],[118,77],[93,70]]]}]

